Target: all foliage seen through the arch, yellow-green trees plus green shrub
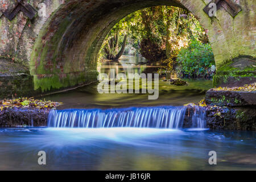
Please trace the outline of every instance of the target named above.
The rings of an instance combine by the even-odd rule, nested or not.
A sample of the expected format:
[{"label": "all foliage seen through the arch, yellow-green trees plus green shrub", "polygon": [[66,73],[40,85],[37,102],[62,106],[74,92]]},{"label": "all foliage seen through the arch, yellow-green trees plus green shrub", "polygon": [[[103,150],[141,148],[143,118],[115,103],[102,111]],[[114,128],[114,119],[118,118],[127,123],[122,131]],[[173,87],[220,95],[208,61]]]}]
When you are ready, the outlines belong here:
[{"label": "all foliage seen through the arch, yellow-green trees plus green shrub", "polygon": [[[101,55],[113,57],[110,53],[117,53],[116,47],[122,44],[126,34],[125,53],[137,49],[150,62],[165,65],[168,72],[177,71],[181,77],[212,77],[214,74],[208,36],[196,17],[185,9],[152,6],[127,15],[109,32]],[[138,55],[138,52],[133,54]]]}]

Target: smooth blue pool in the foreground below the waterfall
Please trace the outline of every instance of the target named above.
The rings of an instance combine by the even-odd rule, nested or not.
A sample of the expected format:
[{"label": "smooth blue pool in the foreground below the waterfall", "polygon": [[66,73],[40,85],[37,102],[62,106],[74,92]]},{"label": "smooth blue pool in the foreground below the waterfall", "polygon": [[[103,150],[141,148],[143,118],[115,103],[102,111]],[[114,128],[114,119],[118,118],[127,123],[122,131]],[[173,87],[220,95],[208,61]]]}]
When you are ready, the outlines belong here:
[{"label": "smooth blue pool in the foreground below the waterfall", "polygon": [[[38,152],[45,151],[46,166]],[[217,165],[209,165],[209,151]],[[255,169],[255,133],[166,129],[2,129],[1,170]]]}]

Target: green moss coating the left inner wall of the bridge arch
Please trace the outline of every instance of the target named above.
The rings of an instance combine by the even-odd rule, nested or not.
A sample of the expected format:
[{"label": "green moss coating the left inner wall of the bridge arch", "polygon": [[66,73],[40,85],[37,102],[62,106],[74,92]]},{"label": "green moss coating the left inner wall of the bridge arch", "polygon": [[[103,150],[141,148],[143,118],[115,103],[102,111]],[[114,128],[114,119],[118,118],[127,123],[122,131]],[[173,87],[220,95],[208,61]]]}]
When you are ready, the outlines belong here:
[{"label": "green moss coating the left inner wall of the bridge arch", "polygon": [[[35,90],[41,90],[42,92],[46,92],[49,90],[65,88],[68,86],[75,86],[85,81],[91,81],[90,79],[85,79],[86,77],[90,77],[86,75],[85,72],[73,73],[73,68],[75,66],[74,63],[69,63],[69,61],[65,61],[65,65],[63,68],[64,73],[61,72],[60,68],[56,67],[56,60],[59,58],[57,57],[57,55],[61,55],[61,53],[58,52],[59,42],[69,23],[71,23],[69,19],[63,20],[63,22],[61,22],[61,24],[59,25],[58,30],[55,32],[54,36],[45,44],[43,44],[41,40],[48,31],[48,27],[44,27],[44,31],[40,32],[31,54],[30,64],[31,74],[34,75]],[[48,22],[48,25],[49,24],[50,23]],[[49,52],[51,50],[55,52]],[[38,61],[40,61],[40,63],[37,63]],[[51,69],[47,69],[46,67],[48,61],[50,61]],[[77,64],[80,63],[77,61]],[[63,73],[65,77],[63,78],[63,74],[60,75],[60,73]],[[47,77],[38,78],[37,75],[46,75]]]}]

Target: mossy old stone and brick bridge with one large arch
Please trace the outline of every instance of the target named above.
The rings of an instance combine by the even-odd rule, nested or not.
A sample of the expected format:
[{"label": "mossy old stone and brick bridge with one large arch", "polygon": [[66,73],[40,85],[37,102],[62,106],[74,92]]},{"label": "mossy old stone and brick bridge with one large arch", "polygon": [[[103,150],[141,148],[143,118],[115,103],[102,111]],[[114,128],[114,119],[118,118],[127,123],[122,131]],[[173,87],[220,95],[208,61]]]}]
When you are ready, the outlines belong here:
[{"label": "mossy old stone and brick bridge with one large arch", "polygon": [[[9,65],[2,78],[20,78],[22,74],[30,82],[20,86],[7,78],[4,84],[9,84],[9,88],[5,89],[11,90],[9,95],[22,95],[96,80],[97,53],[109,30],[126,15],[156,5],[183,7],[208,30],[217,67],[215,85],[234,84],[234,78],[229,77],[241,74],[238,85],[246,82],[247,77],[255,80],[254,0],[236,0],[242,9],[236,15],[230,14],[229,1],[224,1],[216,1],[224,5],[218,6],[216,17],[212,18],[203,10],[209,0],[34,0],[30,1],[34,9],[45,3],[46,17],[36,15],[30,20],[20,12],[10,21],[5,13],[0,13],[0,69],[1,64]],[[15,3],[0,1],[0,5],[6,12]]]}]

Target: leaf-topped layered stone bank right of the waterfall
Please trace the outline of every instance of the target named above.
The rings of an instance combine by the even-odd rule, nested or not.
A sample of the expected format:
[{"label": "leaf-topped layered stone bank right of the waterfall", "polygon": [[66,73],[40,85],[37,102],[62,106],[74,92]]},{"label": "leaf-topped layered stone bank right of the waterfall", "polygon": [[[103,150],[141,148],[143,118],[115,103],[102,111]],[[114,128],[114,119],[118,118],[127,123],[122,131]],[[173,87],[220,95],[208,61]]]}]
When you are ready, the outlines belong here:
[{"label": "leaf-topped layered stone bank right of the waterfall", "polygon": [[210,89],[205,104],[209,128],[256,130],[256,83]]}]

